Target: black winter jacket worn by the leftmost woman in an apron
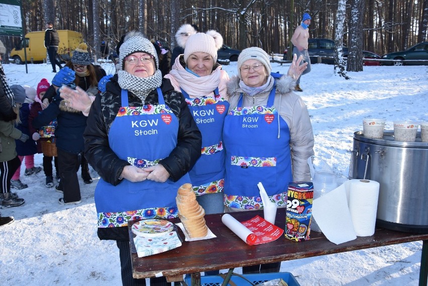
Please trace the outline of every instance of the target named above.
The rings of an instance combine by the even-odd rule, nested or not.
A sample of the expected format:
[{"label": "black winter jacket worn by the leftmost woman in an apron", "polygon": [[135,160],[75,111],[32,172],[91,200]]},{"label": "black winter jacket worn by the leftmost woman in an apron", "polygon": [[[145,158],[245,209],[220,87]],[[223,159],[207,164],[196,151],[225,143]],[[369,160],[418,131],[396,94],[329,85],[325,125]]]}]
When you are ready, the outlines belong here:
[{"label": "black winter jacket worn by the leftmost woman in an apron", "polygon": [[[109,130],[121,107],[121,88],[118,75],[115,75],[106,85],[106,91],[97,95],[92,103],[85,139],[85,157],[99,176],[114,186],[118,185],[120,175],[125,166],[130,165],[121,160],[109,147]],[[165,103],[179,119],[178,140],[171,154],[159,162],[170,174],[172,181],[177,181],[185,175],[200,157],[202,137],[184,96],[176,92],[169,79],[163,79],[161,85]],[[141,106],[141,100],[128,92],[130,106]],[[156,90],[146,98],[145,104],[159,104]]]}]

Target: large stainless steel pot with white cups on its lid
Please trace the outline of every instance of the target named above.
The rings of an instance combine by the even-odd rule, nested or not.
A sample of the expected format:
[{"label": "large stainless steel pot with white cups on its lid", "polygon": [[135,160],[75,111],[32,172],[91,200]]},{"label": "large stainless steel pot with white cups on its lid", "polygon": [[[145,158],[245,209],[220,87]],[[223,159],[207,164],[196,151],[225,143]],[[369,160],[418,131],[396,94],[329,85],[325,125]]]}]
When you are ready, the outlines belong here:
[{"label": "large stainless steel pot with white cups on its lid", "polygon": [[393,131],[383,138],[354,132],[350,179],[379,182],[376,224],[387,229],[428,233],[428,143],[394,140]]}]

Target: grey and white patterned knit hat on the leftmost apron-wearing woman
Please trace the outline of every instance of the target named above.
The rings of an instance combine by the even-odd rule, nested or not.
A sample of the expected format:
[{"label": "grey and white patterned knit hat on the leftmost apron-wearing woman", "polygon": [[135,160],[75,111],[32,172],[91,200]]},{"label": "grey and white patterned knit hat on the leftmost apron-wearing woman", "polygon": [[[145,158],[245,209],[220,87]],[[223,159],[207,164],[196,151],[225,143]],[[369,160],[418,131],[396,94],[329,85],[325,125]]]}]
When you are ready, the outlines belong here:
[{"label": "grey and white patterned knit hat on the leftmost apron-wearing woman", "polygon": [[133,53],[152,55],[155,59],[155,70],[158,69],[159,59],[155,47],[150,40],[138,31],[129,32],[124,38],[124,43],[119,48],[119,62],[122,63],[122,69],[125,67],[125,58]]}]

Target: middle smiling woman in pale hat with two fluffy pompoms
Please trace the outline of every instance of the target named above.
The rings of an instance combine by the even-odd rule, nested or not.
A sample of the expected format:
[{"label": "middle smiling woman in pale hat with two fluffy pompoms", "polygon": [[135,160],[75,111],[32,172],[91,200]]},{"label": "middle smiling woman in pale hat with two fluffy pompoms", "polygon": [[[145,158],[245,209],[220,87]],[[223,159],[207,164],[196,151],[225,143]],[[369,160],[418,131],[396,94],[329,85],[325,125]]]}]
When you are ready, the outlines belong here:
[{"label": "middle smiling woman in pale hat with two fluffy pompoms", "polygon": [[184,24],[175,35],[184,48],[165,78],[186,98],[202,133],[201,157],[190,170],[190,180],[198,203],[206,214],[222,213],[225,178],[223,122],[229,108],[226,82],[228,74],[217,63],[223,37],[216,31],[198,33]]}]

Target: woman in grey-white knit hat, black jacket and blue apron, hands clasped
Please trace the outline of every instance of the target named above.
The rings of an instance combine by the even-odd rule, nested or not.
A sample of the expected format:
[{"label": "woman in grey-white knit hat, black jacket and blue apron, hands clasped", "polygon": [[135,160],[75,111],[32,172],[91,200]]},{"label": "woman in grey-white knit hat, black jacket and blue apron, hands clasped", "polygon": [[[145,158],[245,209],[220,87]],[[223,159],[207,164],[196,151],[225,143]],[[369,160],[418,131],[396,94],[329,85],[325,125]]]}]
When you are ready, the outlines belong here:
[{"label": "woman in grey-white knit hat, black jacket and blue apron, hands clasped", "polygon": [[[201,135],[183,95],[162,79],[148,39],[130,32],[119,60],[122,69],[90,107],[85,154],[101,177],[95,188],[98,237],[116,240],[122,283],[145,285],[132,277],[127,223],[178,215],[177,190],[190,182],[187,172],[200,156]],[[165,277],[150,280],[167,285]]]}]

